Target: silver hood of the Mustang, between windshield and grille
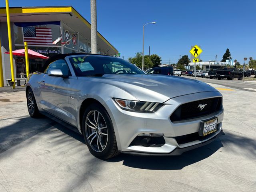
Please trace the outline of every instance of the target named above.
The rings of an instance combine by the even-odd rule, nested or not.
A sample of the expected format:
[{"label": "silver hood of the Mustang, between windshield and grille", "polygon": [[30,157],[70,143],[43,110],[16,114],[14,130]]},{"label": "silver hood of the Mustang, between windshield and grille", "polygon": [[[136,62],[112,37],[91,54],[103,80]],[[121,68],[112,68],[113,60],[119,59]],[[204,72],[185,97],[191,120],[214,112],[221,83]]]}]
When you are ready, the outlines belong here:
[{"label": "silver hood of the Mustang, between windshield and grille", "polygon": [[94,80],[116,86],[140,101],[149,102],[165,102],[170,98],[186,94],[217,91],[198,80],[168,75],[105,74]]}]

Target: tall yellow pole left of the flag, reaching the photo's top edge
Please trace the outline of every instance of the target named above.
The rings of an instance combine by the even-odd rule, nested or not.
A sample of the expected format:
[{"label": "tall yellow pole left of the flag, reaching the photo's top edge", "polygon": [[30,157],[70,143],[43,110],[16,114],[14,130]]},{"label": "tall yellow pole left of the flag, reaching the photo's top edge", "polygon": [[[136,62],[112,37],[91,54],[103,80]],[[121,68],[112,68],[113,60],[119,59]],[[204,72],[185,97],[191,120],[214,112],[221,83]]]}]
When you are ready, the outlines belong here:
[{"label": "tall yellow pole left of the flag, reaching the photo's top edge", "polygon": [[12,34],[11,34],[11,23],[10,23],[10,12],[9,12],[9,2],[5,0],[6,3],[6,17],[7,17],[7,27],[8,27],[8,39],[9,39],[9,52],[10,52],[10,64],[12,73],[12,88],[15,89],[15,79],[14,79],[14,67],[12,58]]}]

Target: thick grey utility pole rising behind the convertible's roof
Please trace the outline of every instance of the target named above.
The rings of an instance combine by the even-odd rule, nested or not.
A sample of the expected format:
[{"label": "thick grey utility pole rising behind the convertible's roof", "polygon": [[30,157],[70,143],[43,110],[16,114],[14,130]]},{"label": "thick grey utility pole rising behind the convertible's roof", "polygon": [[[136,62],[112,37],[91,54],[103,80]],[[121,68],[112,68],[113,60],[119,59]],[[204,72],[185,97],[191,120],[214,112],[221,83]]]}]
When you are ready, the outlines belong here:
[{"label": "thick grey utility pole rising behind the convertible's roof", "polygon": [[91,42],[92,54],[97,54],[97,12],[96,0],[91,0]]}]

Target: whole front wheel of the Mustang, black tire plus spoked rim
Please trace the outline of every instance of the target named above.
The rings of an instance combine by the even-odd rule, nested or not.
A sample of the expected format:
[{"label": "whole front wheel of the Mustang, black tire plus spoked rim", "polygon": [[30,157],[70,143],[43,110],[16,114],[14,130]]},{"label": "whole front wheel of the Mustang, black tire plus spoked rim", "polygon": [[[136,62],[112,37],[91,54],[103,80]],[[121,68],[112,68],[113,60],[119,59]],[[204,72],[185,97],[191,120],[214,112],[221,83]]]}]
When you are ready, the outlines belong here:
[{"label": "whole front wheel of the Mustang, black tire plus spoked rim", "polygon": [[84,111],[82,122],[84,140],[93,156],[108,159],[119,154],[114,127],[104,107],[98,103],[90,104]]}]

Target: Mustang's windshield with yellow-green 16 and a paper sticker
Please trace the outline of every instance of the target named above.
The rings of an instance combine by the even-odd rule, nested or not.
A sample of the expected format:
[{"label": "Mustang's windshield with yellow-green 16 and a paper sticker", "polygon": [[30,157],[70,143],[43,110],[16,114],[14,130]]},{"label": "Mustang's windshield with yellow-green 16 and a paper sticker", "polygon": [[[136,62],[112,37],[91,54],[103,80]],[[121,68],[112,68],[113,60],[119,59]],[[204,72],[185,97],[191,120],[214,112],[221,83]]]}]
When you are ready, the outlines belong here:
[{"label": "Mustang's windshield with yellow-green 16 and a paper sticker", "polygon": [[104,74],[145,74],[135,65],[120,58],[105,56],[74,56],[69,58],[76,76]]}]

